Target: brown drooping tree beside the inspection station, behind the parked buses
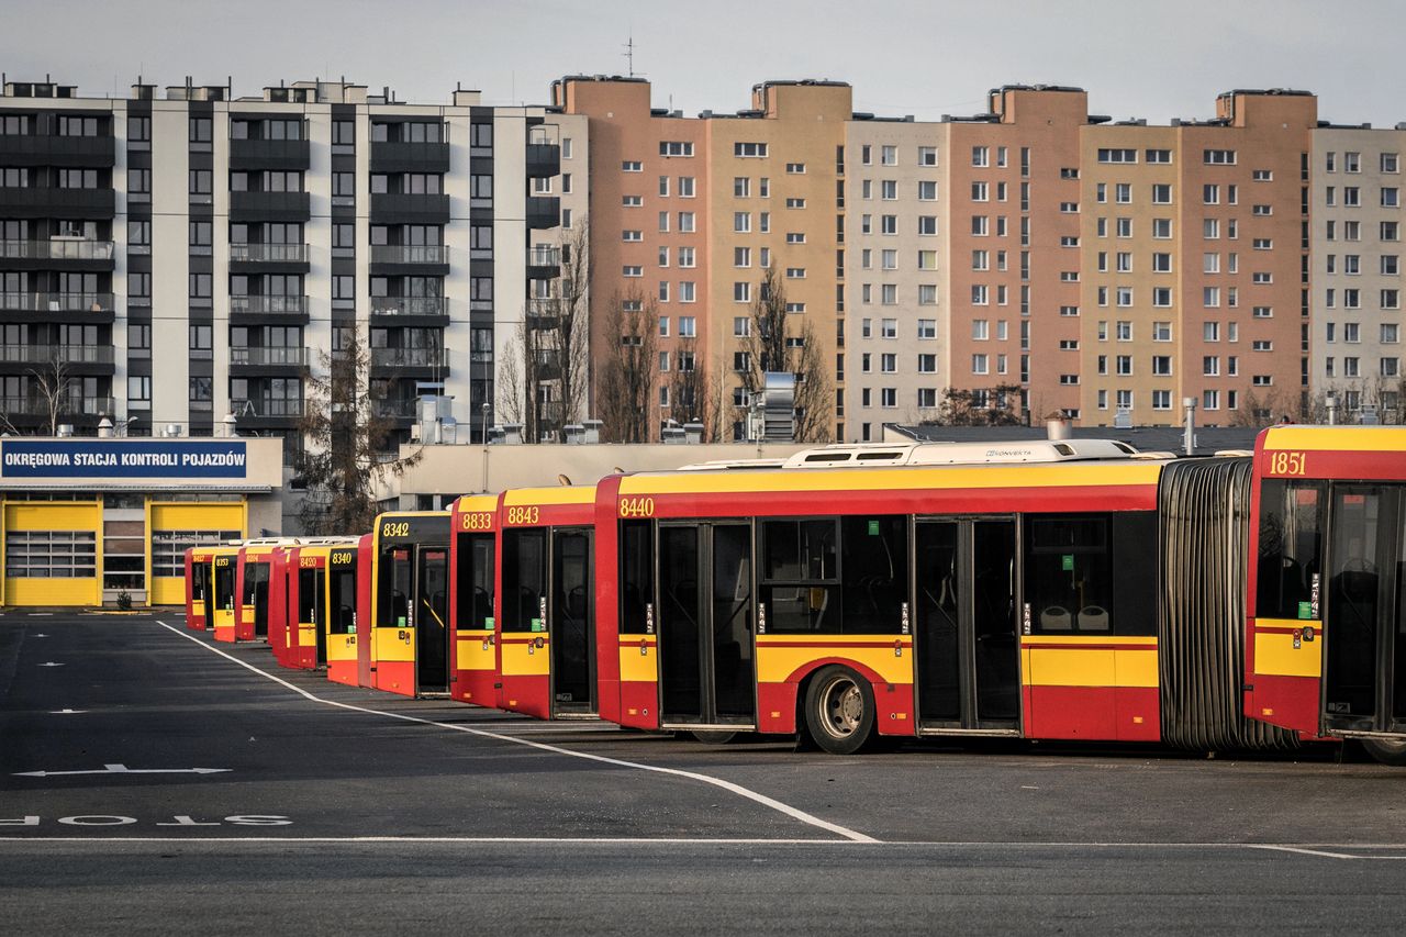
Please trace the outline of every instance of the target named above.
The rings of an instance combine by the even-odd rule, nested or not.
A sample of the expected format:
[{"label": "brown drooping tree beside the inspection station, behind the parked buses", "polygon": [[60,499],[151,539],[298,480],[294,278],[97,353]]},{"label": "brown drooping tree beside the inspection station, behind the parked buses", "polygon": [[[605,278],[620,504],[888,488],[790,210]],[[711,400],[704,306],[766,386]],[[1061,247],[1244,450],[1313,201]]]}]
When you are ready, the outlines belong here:
[{"label": "brown drooping tree beside the inspection station, behind the parked buses", "polygon": [[419,464],[423,452],[391,454],[395,419],[387,401],[371,394],[371,356],[353,331],[332,355],[322,352],[319,373],[308,377],[298,429],[304,452],[297,471],[307,488],[298,521],[314,535],[370,530],[380,512],[381,483]]}]

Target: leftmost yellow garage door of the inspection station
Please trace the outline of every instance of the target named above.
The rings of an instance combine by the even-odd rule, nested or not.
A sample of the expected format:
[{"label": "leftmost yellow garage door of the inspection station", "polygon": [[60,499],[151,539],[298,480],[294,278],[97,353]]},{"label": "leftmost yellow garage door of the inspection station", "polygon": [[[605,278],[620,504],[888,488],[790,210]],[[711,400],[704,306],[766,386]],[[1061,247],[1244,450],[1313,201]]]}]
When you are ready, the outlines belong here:
[{"label": "leftmost yellow garage door of the inspection station", "polygon": [[100,605],[100,501],[4,506],[6,605]]}]

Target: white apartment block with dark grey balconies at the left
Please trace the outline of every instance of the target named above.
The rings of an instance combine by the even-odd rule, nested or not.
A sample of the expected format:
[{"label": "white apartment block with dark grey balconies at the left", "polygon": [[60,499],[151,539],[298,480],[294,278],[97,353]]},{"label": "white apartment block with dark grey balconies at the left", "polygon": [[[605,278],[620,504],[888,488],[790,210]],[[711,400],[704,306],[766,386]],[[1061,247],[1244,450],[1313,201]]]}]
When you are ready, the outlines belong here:
[{"label": "white apartment block with dark grey balconies at the left", "polygon": [[477,433],[529,297],[558,276],[562,200],[585,205],[561,151],[585,153],[586,132],[463,90],[429,106],[344,82],[238,98],[188,80],[127,98],[10,82],[6,419],[48,422],[39,376],[59,357],[79,432],[105,415],[131,435],[211,435],[233,414],[291,454],[309,376],[356,333],[402,439],[425,395]]}]

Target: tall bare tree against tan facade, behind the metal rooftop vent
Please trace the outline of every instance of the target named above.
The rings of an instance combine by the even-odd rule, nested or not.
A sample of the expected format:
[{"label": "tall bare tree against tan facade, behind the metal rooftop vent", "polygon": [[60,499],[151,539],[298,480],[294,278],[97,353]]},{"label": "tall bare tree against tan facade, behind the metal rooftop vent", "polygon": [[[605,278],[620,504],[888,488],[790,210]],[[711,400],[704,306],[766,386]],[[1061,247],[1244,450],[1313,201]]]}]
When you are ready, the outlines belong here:
[{"label": "tall bare tree against tan facade, behind the metal rooftop vent", "polygon": [[747,338],[747,366],[741,370],[742,390],[762,390],[768,371],[796,376],[796,440],[828,442],[831,419],[830,373],[814,322],[786,312],[786,288],[770,267],[752,297]]}]

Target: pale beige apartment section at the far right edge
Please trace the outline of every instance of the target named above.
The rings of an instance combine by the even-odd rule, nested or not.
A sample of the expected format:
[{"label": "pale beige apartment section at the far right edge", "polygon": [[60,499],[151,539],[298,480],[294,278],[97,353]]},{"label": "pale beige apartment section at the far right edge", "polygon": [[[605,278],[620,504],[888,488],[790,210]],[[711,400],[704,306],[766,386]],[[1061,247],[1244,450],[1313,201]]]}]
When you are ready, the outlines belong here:
[{"label": "pale beige apartment section at the far right edge", "polygon": [[1396,422],[1402,393],[1402,152],[1406,131],[1313,132],[1312,412]]}]

